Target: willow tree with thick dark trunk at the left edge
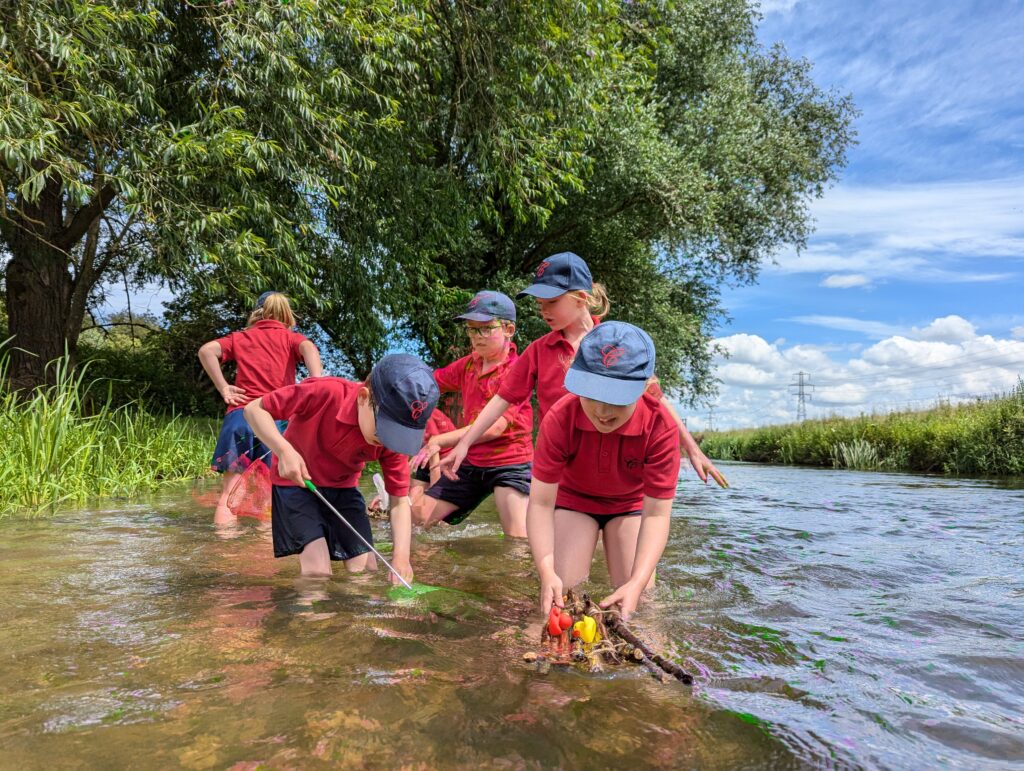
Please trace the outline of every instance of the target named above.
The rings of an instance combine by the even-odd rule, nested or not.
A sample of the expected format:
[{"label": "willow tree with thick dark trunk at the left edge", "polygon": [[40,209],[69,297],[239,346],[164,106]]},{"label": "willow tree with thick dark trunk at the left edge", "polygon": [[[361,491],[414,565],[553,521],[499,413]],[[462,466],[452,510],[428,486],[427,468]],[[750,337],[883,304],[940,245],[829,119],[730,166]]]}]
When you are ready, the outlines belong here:
[{"label": "willow tree with thick dark trunk at the left edge", "polygon": [[[313,223],[393,123],[390,2],[0,4],[0,255],[18,385],[112,269],[308,286]],[[337,56],[343,55],[345,66]]]}]

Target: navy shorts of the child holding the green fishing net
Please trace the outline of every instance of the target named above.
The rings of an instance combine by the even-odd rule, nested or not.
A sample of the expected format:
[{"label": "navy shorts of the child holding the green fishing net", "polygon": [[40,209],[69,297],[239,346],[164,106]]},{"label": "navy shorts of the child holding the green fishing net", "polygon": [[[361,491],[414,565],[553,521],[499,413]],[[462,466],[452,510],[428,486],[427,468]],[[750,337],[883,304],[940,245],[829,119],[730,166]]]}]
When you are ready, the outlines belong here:
[{"label": "navy shorts of the child holding the green fishing net", "polygon": [[[355,487],[319,487],[334,506],[369,543],[374,543],[367,516],[367,502]],[[273,485],[270,498],[273,556],[298,554],[306,544],[327,539],[331,559],[344,560],[366,554],[370,548],[359,541],[324,502],[305,487]]]}]

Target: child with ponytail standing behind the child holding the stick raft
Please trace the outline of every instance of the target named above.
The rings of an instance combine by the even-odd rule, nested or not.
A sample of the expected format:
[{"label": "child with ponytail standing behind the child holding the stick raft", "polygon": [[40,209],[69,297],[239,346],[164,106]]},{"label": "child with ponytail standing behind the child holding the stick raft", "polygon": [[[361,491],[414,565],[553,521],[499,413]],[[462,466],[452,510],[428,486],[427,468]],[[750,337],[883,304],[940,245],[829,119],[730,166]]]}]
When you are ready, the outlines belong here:
[{"label": "child with ponytail standing behind the child holding the stick raft", "polygon": [[[470,430],[445,459],[442,464],[445,474],[450,469],[452,472],[459,470],[470,445],[479,440],[509,404],[528,399],[535,389],[541,408],[541,420],[544,420],[552,404],[567,393],[562,382],[580,341],[607,315],[610,305],[604,287],[594,283],[590,267],[582,257],[572,252],[555,254],[542,262],[534,273],[534,283],[516,297],[523,295],[532,295],[537,299],[541,315],[551,332],[526,346],[497,396],[480,412]],[[676,421],[682,448],[701,481],[707,482],[711,476],[720,486],[729,486],[725,477],[690,436],[682,418],[657,382],[652,381],[649,388],[651,395],[662,400]]]}]

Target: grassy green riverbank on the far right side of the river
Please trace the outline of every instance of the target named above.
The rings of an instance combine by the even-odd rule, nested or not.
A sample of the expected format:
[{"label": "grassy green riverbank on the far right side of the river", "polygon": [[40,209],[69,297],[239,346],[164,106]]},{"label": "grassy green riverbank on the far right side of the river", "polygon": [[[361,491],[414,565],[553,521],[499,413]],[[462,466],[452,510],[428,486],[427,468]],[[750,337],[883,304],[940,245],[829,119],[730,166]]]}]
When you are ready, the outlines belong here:
[{"label": "grassy green riverbank on the far right side of the river", "polygon": [[700,447],[723,461],[1020,476],[1024,385],[992,401],[706,433]]}]

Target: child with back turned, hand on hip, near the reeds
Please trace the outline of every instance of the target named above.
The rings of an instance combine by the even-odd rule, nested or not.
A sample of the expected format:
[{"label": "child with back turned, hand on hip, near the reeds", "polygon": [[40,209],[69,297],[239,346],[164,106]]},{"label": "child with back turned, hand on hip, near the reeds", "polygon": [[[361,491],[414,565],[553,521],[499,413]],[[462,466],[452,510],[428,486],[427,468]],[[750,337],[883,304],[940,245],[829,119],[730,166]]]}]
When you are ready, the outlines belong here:
[{"label": "child with back turned, hand on hip, near the reeds", "polygon": [[[240,472],[249,464],[270,465],[267,449],[253,435],[242,408],[265,393],[295,383],[295,368],[303,361],[309,377],[323,374],[319,353],[304,335],[293,332],[295,314],[288,298],[280,292],[264,292],[249,315],[242,332],[217,338],[199,349],[199,360],[227,404],[227,415],[217,437],[210,467],[224,475],[213,521],[227,524],[234,515],[227,499]],[[238,373],[229,384],[220,370],[222,362],[234,361]]]}]

